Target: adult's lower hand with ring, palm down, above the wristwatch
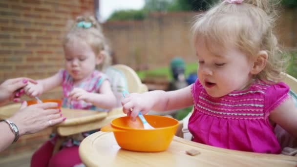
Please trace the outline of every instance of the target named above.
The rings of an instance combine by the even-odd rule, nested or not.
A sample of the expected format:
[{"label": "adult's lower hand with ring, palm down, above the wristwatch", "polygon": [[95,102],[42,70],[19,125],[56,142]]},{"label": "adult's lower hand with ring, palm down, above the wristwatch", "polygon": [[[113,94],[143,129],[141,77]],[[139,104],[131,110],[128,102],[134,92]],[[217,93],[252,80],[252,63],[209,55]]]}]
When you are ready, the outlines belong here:
[{"label": "adult's lower hand with ring, palm down, above the wristwatch", "polygon": [[19,128],[20,135],[38,132],[48,126],[62,123],[66,118],[62,117],[57,103],[41,103],[27,106],[24,101],[19,111],[10,120]]}]

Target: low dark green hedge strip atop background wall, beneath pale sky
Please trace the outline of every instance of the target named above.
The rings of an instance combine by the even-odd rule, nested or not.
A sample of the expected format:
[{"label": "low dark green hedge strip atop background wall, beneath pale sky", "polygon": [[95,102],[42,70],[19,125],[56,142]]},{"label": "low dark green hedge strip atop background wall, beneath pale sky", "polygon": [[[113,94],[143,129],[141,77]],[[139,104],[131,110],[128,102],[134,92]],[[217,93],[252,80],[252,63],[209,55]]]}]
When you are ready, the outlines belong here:
[{"label": "low dark green hedge strip atop background wall, beneath pale sky", "polygon": [[118,10],[107,21],[143,20],[145,17],[144,10]]}]

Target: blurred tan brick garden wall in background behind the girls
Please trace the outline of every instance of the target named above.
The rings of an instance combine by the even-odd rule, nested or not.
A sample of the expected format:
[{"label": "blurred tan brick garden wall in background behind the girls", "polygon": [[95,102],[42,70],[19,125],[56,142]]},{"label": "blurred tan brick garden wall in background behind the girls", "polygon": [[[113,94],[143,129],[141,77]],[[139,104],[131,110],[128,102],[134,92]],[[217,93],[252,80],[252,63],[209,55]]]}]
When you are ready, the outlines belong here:
[{"label": "blurred tan brick garden wall in background behind the girls", "polygon": [[[190,28],[197,13],[153,13],[145,21],[106,22],[104,30],[119,63],[134,69],[167,66],[175,56],[196,62]],[[285,48],[297,47],[297,8],[283,9],[276,21],[276,35]]]}]

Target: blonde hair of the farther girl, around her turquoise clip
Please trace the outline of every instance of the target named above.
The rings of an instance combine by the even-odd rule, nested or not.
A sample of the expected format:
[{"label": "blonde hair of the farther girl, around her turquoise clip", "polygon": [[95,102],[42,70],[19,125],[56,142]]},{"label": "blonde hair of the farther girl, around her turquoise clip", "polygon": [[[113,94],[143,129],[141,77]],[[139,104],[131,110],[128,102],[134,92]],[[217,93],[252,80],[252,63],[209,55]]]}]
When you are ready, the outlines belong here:
[{"label": "blonde hair of the farther girl, around her turquoise clip", "polygon": [[[77,23],[81,21],[90,22],[91,26],[89,28],[77,26]],[[99,70],[104,70],[110,65],[111,57],[109,46],[101,26],[95,17],[90,15],[79,16],[76,18],[76,21],[68,21],[67,29],[68,32],[63,40],[64,47],[68,42],[73,40],[84,40],[92,48],[96,56],[100,53],[104,55],[102,63],[97,66]]]}]

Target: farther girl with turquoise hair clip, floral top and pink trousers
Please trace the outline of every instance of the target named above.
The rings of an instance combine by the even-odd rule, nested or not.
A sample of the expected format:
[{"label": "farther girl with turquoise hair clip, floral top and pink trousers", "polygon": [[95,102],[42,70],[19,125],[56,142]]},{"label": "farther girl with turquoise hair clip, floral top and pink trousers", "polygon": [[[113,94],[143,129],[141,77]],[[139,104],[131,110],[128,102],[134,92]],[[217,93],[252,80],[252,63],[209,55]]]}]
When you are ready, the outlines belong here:
[{"label": "farther girl with turquoise hair clip, floral top and pink trousers", "polygon": [[[62,85],[62,107],[108,111],[116,104],[107,76],[102,70],[110,62],[108,46],[99,23],[92,16],[78,17],[70,26],[63,40],[65,69],[55,75],[27,85],[24,90],[30,97]],[[52,158],[55,139],[47,141],[37,150],[31,161],[32,167],[74,166],[81,163],[78,146],[90,132],[82,133],[80,140],[70,138]]]}]

